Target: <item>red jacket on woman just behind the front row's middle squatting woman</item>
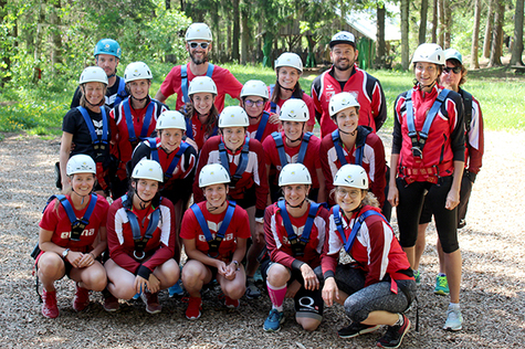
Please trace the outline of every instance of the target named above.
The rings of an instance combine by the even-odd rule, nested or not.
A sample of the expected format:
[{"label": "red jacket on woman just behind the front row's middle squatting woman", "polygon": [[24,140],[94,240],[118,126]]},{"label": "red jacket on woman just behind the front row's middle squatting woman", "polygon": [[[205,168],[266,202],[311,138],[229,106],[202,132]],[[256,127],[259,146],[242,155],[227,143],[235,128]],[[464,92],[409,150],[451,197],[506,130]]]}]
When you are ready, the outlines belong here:
[{"label": "red jacket on woman just behind the front row's middle squatting woman", "polygon": [[[219,144],[222,142],[221,136],[214,136],[208,139],[208,141],[202,147],[199,156],[199,162],[197,165],[196,177],[193,181],[193,200],[195,202],[204,201],[204,195],[202,189],[199,188],[199,176],[200,170],[208,163],[221,163],[219,155]],[[244,146],[244,144],[243,144]],[[242,146],[242,147],[243,147]],[[228,161],[230,163],[230,173],[234,174],[241,159],[241,150],[238,149],[235,152],[232,152],[227,148]],[[244,192],[255,186],[255,197],[256,197],[256,218],[263,218],[264,209],[266,208],[266,199],[269,193],[267,180],[266,180],[266,169],[264,167],[264,151],[261,142],[259,140],[249,138],[249,154],[248,154],[248,166],[244,172],[242,173],[241,179],[237,182],[234,188],[230,188],[229,195],[233,200],[241,200],[244,198]]]}]

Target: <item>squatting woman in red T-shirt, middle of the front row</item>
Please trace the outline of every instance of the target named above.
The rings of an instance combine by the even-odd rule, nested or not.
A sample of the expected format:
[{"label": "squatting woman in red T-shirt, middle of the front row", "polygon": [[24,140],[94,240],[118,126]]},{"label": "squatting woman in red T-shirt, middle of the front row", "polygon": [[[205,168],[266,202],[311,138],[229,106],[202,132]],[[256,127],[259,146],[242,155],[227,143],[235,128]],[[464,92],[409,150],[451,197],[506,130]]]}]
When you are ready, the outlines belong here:
[{"label": "squatting woman in red T-shirt, middle of the front row", "polygon": [[251,236],[248,213],[228,200],[230,174],[220,163],[202,168],[199,187],[206,201],[195,203],[182,219],[180,237],[188,255],[182,284],[189,293],[186,317],[198,319],[202,310],[200,290],[213,278],[221,285],[224,304],[238,308],[246,289],[246,276],[240,262]]}]

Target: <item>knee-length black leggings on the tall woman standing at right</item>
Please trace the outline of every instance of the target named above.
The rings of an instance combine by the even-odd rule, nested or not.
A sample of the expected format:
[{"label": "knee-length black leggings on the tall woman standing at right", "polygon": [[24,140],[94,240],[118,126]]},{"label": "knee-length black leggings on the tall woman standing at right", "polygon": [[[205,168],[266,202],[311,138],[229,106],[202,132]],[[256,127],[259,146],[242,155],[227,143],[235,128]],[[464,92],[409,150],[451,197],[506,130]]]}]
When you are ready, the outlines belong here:
[{"label": "knee-length black leggings on the tall woman standing at right", "polygon": [[413,182],[407,186],[398,178],[396,184],[399,190],[397,216],[399,225],[399,243],[402,247],[412,247],[418,239],[418,225],[421,210],[427,201],[434,214],[435,228],[444,253],[452,253],[460,248],[458,244],[458,208],[445,209],[447,195],[452,187],[452,176],[442,177],[438,184],[430,182]]}]

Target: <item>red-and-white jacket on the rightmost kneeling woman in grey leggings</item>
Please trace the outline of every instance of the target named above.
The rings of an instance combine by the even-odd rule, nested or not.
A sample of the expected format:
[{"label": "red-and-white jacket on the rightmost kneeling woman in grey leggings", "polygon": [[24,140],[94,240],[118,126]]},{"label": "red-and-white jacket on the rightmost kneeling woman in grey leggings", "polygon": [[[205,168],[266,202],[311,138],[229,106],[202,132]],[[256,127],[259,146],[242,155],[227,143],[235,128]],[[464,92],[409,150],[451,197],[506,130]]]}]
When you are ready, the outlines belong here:
[{"label": "red-and-white jacket on the rightmost kneeling woman in grey leggings", "polygon": [[[359,215],[368,210],[380,212],[376,208],[365,205],[359,212],[354,212],[349,221],[342,213],[346,239],[350,236],[351,229]],[[323,274],[328,271],[335,273],[339,251],[344,246],[334,221],[333,209],[329,213],[328,224],[322,256]],[[370,215],[363,222],[349,254],[357,262],[358,267],[366,273],[365,287],[379,283],[387,274],[393,279],[413,279],[407,273],[403,273],[410,268],[410,263],[396,239],[392,228],[378,215]]]}]

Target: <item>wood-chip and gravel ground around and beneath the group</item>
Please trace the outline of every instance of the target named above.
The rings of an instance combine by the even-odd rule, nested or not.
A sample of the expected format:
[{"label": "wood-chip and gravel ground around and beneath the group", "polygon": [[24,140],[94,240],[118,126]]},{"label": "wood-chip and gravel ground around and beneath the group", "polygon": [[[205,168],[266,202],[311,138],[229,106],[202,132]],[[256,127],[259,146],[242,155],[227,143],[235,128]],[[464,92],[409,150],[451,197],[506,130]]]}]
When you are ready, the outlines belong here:
[{"label": "wood-chip and gravel ground around and beneath the group", "polygon": [[[227,310],[218,290],[204,293],[202,317],[189,321],[182,300],[161,294],[160,315],[148,315],[139,302],[125,302],[116,314],[102,308],[99,294],[83,313],[71,306],[73,283],[56,283],[60,317],[50,320],[40,313],[34,293],[32,258],[38,223],[45,200],[54,192],[53,163],[60,139],[4,134],[0,142],[0,347],[84,348],[369,348],[380,334],[343,340],[336,330],[346,326],[343,307],[325,309],[314,332],[293,320],[293,303],[286,300],[287,321],[281,331],[262,330],[270,300],[241,299],[240,309]],[[389,136],[382,134],[386,145]],[[484,167],[471,198],[468,226],[460,232],[463,254],[463,330],[441,329],[448,297],[432,293],[438,272],[437,253],[428,245],[422,258],[419,290],[419,332],[412,330],[403,348],[512,348],[525,342],[525,254],[518,219],[524,207],[521,180],[525,169],[525,133],[487,131]],[[389,149],[387,149],[389,154]],[[504,172],[505,173],[504,173]],[[508,174],[507,174],[508,173]],[[393,226],[396,223],[393,220]],[[433,224],[428,241],[437,237]],[[416,322],[416,310],[408,316]]]}]

